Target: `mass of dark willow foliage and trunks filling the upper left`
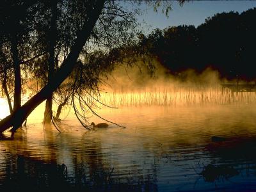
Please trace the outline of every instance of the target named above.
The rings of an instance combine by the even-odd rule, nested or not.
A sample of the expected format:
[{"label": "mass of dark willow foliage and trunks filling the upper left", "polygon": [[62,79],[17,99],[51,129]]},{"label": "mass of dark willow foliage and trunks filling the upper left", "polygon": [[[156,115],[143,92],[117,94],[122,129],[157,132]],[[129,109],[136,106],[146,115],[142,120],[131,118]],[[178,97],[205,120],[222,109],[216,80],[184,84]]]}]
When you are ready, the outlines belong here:
[{"label": "mass of dark willow foliage and trunks filling the upper left", "polygon": [[[1,2],[1,75],[13,74],[14,69],[14,102],[20,98],[22,88],[30,88],[33,97],[23,106],[17,105],[18,108],[0,122],[0,131],[13,126],[14,132],[31,111],[45,99],[51,99],[56,90],[55,99],[62,89],[67,92],[65,97],[71,94],[75,109],[74,98],[79,99],[80,108],[85,104],[90,109],[83,97],[92,97],[90,92],[97,92],[100,74],[109,72],[118,63],[114,60],[133,44],[138,33],[136,15],[141,13],[138,7],[143,3],[163,7],[166,14],[171,8],[169,1],[159,0]],[[125,48],[116,55],[114,51],[120,47]],[[120,58],[127,60],[127,54]],[[127,63],[130,65],[131,61]],[[13,81],[12,76],[9,81]],[[29,83],[22,86],[22,81]],[[36,89],[29,87],[31,82],[36,82]]]}]

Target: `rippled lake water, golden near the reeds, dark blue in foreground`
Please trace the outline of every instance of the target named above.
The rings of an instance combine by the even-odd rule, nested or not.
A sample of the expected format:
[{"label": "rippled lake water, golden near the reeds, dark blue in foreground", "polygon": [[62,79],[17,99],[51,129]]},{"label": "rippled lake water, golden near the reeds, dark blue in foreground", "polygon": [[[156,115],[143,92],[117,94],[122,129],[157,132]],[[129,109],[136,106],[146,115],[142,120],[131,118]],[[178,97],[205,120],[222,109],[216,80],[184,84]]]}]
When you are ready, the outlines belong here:
[{"label": "rippled lake water, golden near the reeds, dark blue in foreground", "polygon": [[102,115],[127,128],[86,132],[70,118],[60,134],[33,124],[0,141],[0,190],[256,191],[255,106]]}]

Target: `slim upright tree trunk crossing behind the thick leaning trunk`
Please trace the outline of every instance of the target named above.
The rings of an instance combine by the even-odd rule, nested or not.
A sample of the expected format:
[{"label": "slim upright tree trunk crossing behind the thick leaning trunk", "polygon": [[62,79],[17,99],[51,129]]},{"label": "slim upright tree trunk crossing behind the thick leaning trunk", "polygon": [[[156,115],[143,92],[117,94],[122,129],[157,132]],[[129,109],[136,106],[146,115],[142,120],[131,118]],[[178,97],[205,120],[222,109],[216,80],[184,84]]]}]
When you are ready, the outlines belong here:
[{"label": "slim upright tree trunk crossing behind the thick leaning trunk", "polygon": [[[56,20],[57,20],[57,1],[51,1],[51,24],[49,31],[49,60],[48,60],[48,82],[54,77],[54,47],[56,46]],[[44,123],[50,124],[52,120],[52,93],[47,97],[44,111]]]}]

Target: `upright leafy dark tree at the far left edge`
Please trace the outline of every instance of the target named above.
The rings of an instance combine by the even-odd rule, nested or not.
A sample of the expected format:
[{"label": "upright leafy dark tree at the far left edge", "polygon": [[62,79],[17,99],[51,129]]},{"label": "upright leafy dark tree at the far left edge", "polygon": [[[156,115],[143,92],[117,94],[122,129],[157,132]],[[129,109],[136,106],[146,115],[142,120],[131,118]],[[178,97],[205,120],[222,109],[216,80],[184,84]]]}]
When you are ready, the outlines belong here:
[{"label": "upright leafy dark tree at the far left edge", "polygon": [[26,69],[26,67],[22,64],[25,64],[26,59],[32,55],[29,51],[32,40],[29,37],[31,10],[28,8],[33,3],[35,2],[1,2],[0,79],[11,114],[21,106],[22,83],[26,83],[26,73],[21,74],[22,68]]}]

